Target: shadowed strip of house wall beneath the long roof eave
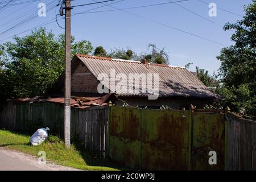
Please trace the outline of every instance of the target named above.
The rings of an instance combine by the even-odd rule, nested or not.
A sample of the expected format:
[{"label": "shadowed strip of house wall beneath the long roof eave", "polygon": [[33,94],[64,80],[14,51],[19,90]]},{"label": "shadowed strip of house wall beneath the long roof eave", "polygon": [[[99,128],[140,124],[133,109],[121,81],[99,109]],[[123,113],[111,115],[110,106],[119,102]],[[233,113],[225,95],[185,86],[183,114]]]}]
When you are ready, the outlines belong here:
[{"label": "shadowed strip of house wall beneath the long roof eave", "polygon": [[[183,97],[162,97],[157,100],[148,100],[147,97],[118,97],[119,99],[126,101],[127,104],[136,107],[139,106],[160,106],[167,105],[172,109],[182,109],[185,107],[186,110],[189,110],[191,104],[196,106],[196,108],[203,108],[205,104],[213,104],[213,100],[201,99],[201,98],[183,98]],[[123,102],[117,100],[115,105],[122,106]]]}]

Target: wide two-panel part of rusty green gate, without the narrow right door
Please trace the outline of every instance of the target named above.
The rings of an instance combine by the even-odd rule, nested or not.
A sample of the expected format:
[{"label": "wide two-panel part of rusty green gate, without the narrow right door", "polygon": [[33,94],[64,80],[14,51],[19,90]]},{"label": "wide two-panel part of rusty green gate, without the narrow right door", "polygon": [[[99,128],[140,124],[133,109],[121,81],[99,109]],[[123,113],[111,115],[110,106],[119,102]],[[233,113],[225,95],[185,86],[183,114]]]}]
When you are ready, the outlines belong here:
[{"label": "wide two-panel part of rusty green gate, without the narrow right door", "polygon": [[109,156],[134,169],[188,170],[190,111],[110,107]]}]

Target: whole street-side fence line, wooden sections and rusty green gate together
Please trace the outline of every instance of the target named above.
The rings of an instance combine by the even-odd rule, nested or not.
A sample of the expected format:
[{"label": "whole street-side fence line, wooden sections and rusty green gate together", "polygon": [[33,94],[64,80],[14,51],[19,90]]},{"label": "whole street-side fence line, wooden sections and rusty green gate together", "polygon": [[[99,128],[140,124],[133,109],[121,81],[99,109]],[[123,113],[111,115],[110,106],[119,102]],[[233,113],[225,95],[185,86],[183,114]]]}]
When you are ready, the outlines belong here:
[{"label": "whole street-side fence line, wooden sections and rusty green gate together", "polygon": [[[63,105],[52,102],[9,101],[0,111],[0,129],[26,131],[31,135],[36,129],[48,126],[50,134],[63,138],[63,121]],[[100,158],[110,155],[134,168],[222,170],[225,160],[226,170],[256,170],[256,121],[230,112],[192,113],[117,106],[111,106],[110,110],[109,106],[72,108],[71,139]],[[217,166],[208,165],[209,150],[221,156],[217,158]],[[179,161],[175,163],[176,158]]]}]

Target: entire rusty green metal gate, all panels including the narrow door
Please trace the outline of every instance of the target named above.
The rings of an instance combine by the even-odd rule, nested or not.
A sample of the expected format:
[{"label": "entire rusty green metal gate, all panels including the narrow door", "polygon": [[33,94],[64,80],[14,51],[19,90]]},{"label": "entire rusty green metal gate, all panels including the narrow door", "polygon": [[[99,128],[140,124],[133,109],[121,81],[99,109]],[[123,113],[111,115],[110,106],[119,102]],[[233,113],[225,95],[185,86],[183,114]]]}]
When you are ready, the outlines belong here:
[{"label": "entire rusty green metal gate, all panels including the narrow door", "polygon": [[[109,157],[133,169],[224,169],[224,114],[111,106]],[[208,163],[217,152],[217,165]]]}]

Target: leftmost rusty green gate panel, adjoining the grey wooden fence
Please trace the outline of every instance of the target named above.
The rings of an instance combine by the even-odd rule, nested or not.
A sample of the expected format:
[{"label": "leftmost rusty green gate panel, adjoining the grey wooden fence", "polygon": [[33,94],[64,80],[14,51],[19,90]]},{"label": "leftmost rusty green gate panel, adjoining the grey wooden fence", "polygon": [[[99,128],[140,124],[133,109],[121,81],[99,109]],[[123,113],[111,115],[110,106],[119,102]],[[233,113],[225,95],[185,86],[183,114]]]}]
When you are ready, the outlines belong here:
[{"label": "leftmost rusty green gate panel, adjoining the grey wooden fence", "polygon": [[109,113],[110,159],[130,168],[141,168],[141,111],[112,106]]}]

